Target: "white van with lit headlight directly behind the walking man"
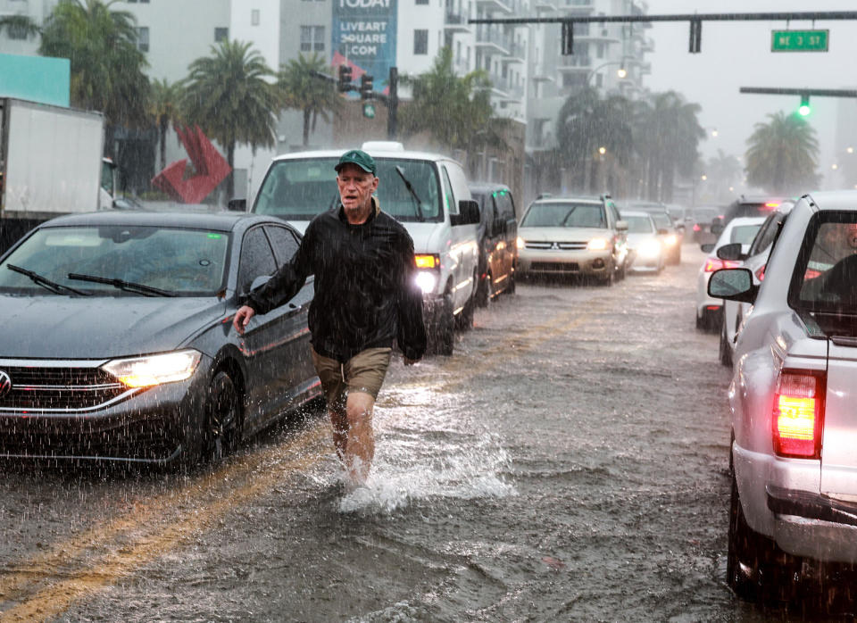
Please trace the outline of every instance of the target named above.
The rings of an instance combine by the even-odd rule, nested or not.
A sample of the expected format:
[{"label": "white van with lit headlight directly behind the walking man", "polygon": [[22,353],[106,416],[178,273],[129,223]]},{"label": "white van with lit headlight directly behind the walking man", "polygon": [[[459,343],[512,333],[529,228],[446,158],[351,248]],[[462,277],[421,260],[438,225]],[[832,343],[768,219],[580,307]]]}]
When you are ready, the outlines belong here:
[{"label": "white van with lit headlight directly behind the walking man", "polygon": [[[413,238],[417,283],[431,353],[453,353],[453,327],[470,328],[477,287],[478,204],[459,162],[409,152],[401,143],[362,145],[378,165],[381,210]],[[310,220],[339,204],[334,166],[345,150],[296,152],[274,158],[250,212],[273,214],[302,233]]]}]

